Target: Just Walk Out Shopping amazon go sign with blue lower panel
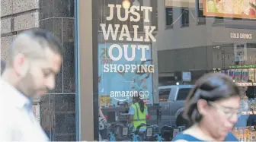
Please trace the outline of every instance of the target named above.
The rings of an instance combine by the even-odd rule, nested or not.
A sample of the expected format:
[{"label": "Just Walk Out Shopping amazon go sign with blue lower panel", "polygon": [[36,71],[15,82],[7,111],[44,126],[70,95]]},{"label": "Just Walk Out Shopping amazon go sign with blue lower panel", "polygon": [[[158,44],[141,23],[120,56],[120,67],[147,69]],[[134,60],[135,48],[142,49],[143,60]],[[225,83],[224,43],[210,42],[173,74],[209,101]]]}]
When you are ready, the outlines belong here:
[{"label": "Just Walk Out Shopping amazon go sign with blue lower panel", "polygon": [[[130,8],[122,8],[122,5],[110,4],[108,9],[107,23],[118,20],[120,23],[130,21],[138,24],[133,24],[132,32],[126,24],[100,24],[106,41],[98,46],[100,98],[110,96],[110,104],[117,105],[117,102],[130,102],[134,95],[139,95],[141,99],[149,102],[152,100],[154,72],[149,45],[156,41],[153,36],[155,26],[144,25],[143,35],[139,35],[138,30],[141,21],[139,11],[144,12],[143,22],[149,23],[152,7],[133,5]],[[124,14],[121,14],[121,11],[124,11]],[[115,42],[108,43],[110,39]],[[101,100],[101,105],[106,105],[106,101]]]}]

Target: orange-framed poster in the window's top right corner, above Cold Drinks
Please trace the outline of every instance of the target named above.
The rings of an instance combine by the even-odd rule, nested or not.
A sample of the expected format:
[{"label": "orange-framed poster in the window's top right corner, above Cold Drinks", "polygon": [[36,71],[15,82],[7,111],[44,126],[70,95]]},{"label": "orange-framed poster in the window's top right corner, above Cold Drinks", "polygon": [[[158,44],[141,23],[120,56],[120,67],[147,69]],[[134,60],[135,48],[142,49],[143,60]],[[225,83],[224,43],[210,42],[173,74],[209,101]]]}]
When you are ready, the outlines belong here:
[{"label": "orange-framed poster in the window's top right corner, above Cold Drinks", "polygon": [[203,0],[203,14],[256,19],[256,0]]}]

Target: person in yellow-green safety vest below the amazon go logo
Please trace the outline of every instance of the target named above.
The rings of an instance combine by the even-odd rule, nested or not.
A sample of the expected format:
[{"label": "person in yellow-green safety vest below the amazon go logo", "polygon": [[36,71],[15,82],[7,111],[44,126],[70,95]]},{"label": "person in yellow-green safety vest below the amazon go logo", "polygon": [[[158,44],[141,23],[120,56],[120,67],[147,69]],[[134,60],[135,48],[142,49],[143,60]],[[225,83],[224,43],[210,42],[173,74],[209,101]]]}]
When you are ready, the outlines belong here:
[{"label": "person in yellow-green safety vest below the amazon go logo", "polygon": [[[134,129],[142,123],[146,124],[146,118],[149,118],[148,108],[139,95],[133,96],[133,105],[130,106],[128,113],[128,121],[133,124]],[[141,127],[139,131],[146,131],[146,127]]]}]

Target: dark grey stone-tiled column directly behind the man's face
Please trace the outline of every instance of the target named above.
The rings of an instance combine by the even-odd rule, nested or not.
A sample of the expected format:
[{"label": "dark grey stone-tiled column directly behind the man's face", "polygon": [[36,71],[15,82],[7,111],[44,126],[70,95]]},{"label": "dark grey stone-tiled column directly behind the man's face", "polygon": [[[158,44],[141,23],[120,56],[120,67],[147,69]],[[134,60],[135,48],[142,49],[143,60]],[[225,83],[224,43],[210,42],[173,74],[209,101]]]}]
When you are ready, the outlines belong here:
[{"label": "dark grey stone-tiled column directly behind the man's face", "polygon": [[75,0],[40,0],[40,27],[50,30],[62,43],[62,69],[56,88],[41,101],[41,125],[50,140],[75,141]]}]

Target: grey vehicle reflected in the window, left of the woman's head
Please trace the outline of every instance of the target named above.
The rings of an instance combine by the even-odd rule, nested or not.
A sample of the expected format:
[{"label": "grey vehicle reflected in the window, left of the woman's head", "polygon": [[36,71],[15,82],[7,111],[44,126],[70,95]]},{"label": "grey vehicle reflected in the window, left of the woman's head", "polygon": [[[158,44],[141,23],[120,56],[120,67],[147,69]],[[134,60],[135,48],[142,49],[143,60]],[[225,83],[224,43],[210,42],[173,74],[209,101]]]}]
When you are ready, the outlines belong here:
[{"label": "grey vehicle reflected in the window, left of the woman's head", "polygon": [[159,103],[162,111],[162,125],[188,127],[182,117],[184,102],[193,85],[170,85],[158,87]]}]

